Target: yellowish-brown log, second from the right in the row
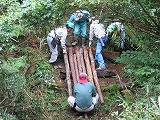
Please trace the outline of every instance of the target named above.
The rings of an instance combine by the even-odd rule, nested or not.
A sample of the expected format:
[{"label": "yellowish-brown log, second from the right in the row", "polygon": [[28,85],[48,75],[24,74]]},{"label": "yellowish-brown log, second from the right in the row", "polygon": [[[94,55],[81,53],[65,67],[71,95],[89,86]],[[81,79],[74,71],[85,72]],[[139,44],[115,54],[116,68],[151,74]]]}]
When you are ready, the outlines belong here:
[{"label": "yellowish-brown log, second from the right in the row", "polygon": [[88,80],[94,84],[91,65],[90,65],[90,61],[89,61],[89,57],[88,57],[88,50],[86,47],[83,47],[83,51],[84,51],[84,60],[85,60],[85,64],[86,64]]}]

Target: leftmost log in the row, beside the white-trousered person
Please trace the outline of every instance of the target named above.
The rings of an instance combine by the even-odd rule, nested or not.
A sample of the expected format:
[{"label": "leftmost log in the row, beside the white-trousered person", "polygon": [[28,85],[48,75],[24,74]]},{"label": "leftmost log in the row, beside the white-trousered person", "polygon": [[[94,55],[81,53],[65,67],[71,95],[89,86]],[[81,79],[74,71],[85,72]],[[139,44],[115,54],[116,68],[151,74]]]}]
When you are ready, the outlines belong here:
[{"label": "leftmost log in the row, beside the white-trousered person", "polygon": [[70,79],[70,68],[69,68],[67,54],[64,54],[64,62],[65,62],[65,67],[66,67],[66,80],[67,80],[67,86],[68,86],[68,95],[72,96],[72,82]]}]

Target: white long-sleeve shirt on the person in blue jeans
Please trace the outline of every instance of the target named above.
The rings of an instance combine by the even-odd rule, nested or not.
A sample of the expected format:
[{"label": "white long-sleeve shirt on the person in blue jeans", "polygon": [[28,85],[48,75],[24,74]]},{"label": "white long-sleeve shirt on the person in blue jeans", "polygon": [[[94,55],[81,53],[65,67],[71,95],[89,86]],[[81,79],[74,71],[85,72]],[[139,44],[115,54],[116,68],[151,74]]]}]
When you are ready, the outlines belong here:
[{"label": "white long-sleeve shirt on the person in blue jeans", "polygon": [[93,37],[101,38],[106,35],[105,27],[99,23],[99,20],[94,20],[90,25],[89,40],[93,40]]}]

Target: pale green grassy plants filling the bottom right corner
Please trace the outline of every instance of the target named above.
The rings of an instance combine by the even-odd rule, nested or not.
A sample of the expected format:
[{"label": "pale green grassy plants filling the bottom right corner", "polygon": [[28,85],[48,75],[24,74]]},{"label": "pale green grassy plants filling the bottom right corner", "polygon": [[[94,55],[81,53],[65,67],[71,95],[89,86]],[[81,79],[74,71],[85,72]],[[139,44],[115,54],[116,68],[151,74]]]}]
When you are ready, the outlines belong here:
[{"label": "pale green grassy plants filling the bottom right corner", "polygon": [[139,92],[134,101],[119,97],[117,101],[120,102],[119,106],[123,107],[123,111],[113,112],[112,116],[121,120],[159,120],[160,106],[157,104],[157,97],[149,96],[149,87],[145,93],[144,96]]}]

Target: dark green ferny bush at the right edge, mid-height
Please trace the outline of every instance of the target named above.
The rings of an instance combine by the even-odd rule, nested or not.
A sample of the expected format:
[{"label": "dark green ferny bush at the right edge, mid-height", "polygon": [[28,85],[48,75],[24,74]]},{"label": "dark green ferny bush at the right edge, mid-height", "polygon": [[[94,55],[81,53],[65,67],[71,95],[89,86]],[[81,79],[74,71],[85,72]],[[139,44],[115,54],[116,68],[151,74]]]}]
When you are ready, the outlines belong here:
[{"label": "dark green ferny bush at the right edge, mid-height", "polygon": [[127,77],[140,86],[150,83],[150,87],[160,83],[160,51],[126,51],[116,58],[117,62],[126,64],[124,71]]}]

